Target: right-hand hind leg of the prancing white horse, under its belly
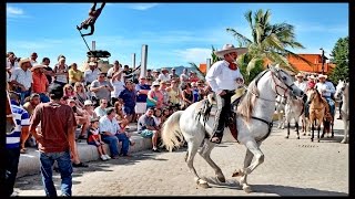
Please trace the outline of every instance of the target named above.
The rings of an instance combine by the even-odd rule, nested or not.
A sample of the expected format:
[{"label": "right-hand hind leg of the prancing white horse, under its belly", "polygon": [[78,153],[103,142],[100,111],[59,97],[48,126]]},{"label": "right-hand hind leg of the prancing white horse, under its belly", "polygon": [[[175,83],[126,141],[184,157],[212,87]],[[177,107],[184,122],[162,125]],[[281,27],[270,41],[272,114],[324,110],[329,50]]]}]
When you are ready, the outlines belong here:
[{"label": "right-hand hind leg of the prancing white horse, under its belly", "polygon": [[200,155],[202,156],[202,158],[204,160],[207,161],[207,164],[213,168],[216,178],[221,181],[221,182],[225,182],[225,177],[221,170],[221,168],[211,159],[211,151],[212,149],[215,147],[214,143],[211,143],[209,140],[204,142],[204,145],[202,147],[202,149],[200,150]]}]

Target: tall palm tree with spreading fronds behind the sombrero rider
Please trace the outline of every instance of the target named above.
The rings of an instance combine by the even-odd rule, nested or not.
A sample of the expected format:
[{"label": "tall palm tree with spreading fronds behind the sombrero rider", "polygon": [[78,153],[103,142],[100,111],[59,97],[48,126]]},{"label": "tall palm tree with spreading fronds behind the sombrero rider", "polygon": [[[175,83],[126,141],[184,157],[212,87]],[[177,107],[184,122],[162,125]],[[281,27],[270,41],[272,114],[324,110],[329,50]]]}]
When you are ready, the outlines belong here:
[{"label": "tall palm tree with spreading fronds behind the sombrero rider", "polygon": [[252,40],[232,28],[226,29],[227,32],[237,39],[240,45],[247,46],[248,49],[247,54],[251,60],[246,66],[247,74],[255,67],[255,63],[263,62],[265,59],[293,72],[297,72],[297,69],[288,63],[287,55],[293,55],[310,65],[312,64],[302,56],[286,50],[286,48],[304,49],[300,42],[295,41],[293,25],[288,23],[271,24],[271,12],[268,10],[265,13],[262,9],[257,10],[254,13],[254,18],[252,18],[252,14],[251,10],[244,14],[252,30]]}]

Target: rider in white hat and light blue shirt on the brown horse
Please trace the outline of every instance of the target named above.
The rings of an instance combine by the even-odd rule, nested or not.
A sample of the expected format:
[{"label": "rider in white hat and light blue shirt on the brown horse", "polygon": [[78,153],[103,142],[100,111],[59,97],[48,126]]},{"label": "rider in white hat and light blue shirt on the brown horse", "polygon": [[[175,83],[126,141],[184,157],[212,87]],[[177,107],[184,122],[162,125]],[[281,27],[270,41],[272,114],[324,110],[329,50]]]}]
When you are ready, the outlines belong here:
[{"label": "rider in white hat and light blue shirt on the brown horse", "polygon": [[315,84],[315,88],[322,94],[331,107],[331,114],[335,113],[335,102],[332,100],[332,96],[335,94],[335,87],[332,82],[326,81],[327,75],[320,74],[318,83]]}]

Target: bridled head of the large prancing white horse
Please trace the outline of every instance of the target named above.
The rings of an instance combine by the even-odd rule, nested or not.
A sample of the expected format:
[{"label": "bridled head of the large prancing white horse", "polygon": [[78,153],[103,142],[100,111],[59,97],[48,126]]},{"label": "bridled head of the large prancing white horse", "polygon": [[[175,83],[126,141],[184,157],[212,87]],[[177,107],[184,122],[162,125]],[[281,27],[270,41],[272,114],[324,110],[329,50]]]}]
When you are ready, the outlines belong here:
[{"label": "bridled head of the large prancing white horse", "polygon": [[293,83],[294,81],[287,72],[280,69],[278,65],[271,66],[270,70],[277,95],[303,97],[304,92]]}]

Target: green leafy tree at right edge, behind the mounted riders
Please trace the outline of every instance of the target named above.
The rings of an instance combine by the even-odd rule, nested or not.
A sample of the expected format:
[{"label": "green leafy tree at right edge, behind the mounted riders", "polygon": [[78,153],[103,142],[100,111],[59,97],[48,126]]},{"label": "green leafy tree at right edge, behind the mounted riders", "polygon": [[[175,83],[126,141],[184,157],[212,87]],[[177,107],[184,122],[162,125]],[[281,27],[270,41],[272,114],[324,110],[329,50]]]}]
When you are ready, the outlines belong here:
[{"label": "green leafy tree at right edge, behind the mounted riders", "polygon": [[336,84],[338,80],[348,81],[348,36],[337,40],[332,51],[332,56],[333,59],[331,61],[336,66],[329,75],[329,80]]}]

